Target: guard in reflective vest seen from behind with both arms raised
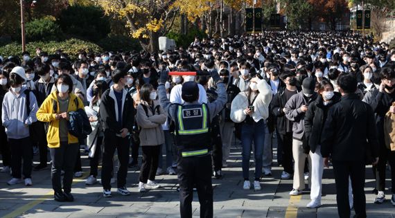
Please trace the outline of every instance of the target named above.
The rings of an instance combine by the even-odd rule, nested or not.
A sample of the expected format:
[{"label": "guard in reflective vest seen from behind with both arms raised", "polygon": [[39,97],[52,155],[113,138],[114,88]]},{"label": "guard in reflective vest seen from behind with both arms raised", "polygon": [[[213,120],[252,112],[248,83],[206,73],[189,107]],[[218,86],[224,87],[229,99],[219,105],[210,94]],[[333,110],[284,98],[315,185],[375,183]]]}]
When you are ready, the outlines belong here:
[{"label": "guard in reflective vest seen from behind with both arms raised", "polygon": [[199,88],[196,82],[182,84],[184,105],[172,104],[166,96],[164,84],[168,72],[162,71],[159,79],[161,107],[175,122],[177,145],[179,201],[181,217],[192,217],[193,187],[198,190],[200,217],[213,217],[213,187],[211,185],[210,123],[227,102],[225,84],[217,71],[211,72],[217,84],[218,98],[209,104],[199,104]]}]

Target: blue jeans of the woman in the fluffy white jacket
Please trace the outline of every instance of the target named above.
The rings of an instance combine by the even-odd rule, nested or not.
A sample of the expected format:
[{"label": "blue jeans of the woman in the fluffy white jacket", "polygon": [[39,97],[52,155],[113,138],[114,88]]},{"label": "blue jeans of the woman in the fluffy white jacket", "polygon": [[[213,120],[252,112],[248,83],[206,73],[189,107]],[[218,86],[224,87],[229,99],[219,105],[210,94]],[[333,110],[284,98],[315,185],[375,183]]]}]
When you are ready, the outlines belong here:
[{"label": "blue jeans of the woman in the fluffy white jacket", "polygon": [[243,145],[243,178],[249,176],[249,158],[251,156],[252,142],[254,141],[254,161],[255,161],[255,179],[261,178],[262,175],[262,154],[263,144],[265,143],[265,122],[259,120],[253,125],[243,123],[241,127],[241,143]]}]

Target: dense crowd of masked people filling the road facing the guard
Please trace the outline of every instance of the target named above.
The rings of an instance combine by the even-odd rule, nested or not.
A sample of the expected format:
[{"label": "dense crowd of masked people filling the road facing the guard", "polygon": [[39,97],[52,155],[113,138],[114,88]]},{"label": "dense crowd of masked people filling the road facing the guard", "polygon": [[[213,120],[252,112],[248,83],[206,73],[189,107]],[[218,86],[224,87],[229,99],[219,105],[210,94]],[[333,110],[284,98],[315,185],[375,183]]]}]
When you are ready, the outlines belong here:
[{"label": "dense crowd of masked people filling the road facing the guard", "polygon": [[[373,165],[374,203],[384,203],[389,194],[389,165],[395,206],[395,48],[369,36],[265,31],[196,37],[187,48],[157,53],[49,54],[37,48],[35,54],[0,57],[0,69],[1,172],[11,172],[8,185],[33,185],[32,171],[51,161],[54,199],[73,201],[71,182],[82,176],[83,147],[90,161],[86,184],[98,182],[102,163],[104,197],[112,196],[113,183],[119,194],[130,194],[126,177],[128,167],[139,164],[139,149],[139,191],[159,188],[156,175],[185,170],[177,169],[174,136],[182,122],[174,120],[188,114],[164,107],[158,88],[163,83],[171,104],[184,105],[183,84],[196,82],[200,104],[218,100],[225,105],[209,119],[214,178],[222,178],[236,141],[243,148],[243,189],[261,190],[262,176],[272,175],[275,138],[277,163],[283,167],[279,179],[293,179],[290,195],[301,194],[308,180],[308,208],[322,204],[322,174],[329,161],[340,217],[349,217],[353,207],[358,217],[366,217],[365,165]],[[198,73],[164,78],[170,71]],[[226,102],[213,72],[225,84]],[[69,132],[69,113],[78,109],[85,110],[91,124],[87,138]],[[32,168],[35,152],[40,164]]]}]

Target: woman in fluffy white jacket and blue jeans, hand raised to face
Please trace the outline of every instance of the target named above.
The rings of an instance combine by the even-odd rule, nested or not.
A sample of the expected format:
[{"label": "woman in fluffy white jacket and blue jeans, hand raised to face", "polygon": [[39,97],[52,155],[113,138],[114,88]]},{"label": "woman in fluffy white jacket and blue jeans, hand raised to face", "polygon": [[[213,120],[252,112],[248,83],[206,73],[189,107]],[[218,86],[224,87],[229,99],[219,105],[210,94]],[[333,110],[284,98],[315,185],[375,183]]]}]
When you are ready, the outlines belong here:
[{"label": "woman in fluffy white jacket and blue jeans, hand raised to face", "polygon": [[255,179],[254,190],[261,190],[262,154],[265,143],[265,120],[269,116],[272,89],[265,80],[252,78],[249,88],[238,93],[231,102],[231,120],[242,123],[241,143],[243,144],[243,189],[249,190],[249,157],[254,141]]}]

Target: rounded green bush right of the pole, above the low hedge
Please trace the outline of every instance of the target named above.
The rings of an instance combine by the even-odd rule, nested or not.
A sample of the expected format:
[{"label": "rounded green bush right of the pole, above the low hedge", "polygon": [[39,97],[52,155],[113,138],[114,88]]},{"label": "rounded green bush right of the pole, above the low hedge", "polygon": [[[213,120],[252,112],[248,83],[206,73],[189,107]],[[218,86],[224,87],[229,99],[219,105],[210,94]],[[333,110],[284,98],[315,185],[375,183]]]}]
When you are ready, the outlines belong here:
[{"label": "rounded green bush right of the pole, above the low hedge", "polygon": [[49,42],[62,40],[62,30],[49,18],[35,19],[26,23],[27,42]]}]

